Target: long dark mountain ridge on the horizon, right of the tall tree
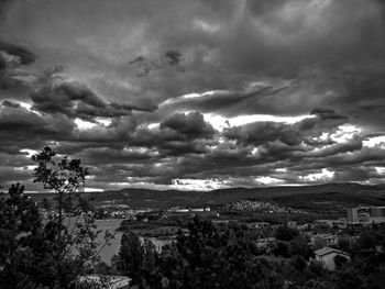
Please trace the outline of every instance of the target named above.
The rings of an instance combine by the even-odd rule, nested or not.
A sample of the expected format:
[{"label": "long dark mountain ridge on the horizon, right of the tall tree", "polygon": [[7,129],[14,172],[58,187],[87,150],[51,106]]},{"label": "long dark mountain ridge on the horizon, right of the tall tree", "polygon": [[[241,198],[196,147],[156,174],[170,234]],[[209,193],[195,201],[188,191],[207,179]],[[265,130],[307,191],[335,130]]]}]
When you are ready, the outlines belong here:
[{"label": "long dark mountain ridge on the horizon, right of the tall tree", "polygon": [[[361,185],[352,182],[322,184],[314,186],[279,186],[279,187],[255,187],[255,188],[227,188],[211,191],[180,191],[180,190],[152,190],[124,188],[118,191],[106,191],[107,194],[122,196],[130,199],[133,207],[197,207],[215,205],[234,202],[242,199],[270,200],[285,196],[320,194],[333,192],[344,194],[349,199],[352,197],[365,197],[370,203],[378,198],[384,199],[385,187],[382,185]],[[98,194],[100,196],[100,194]],[[340,199],[340,198],[339,198]]]}]

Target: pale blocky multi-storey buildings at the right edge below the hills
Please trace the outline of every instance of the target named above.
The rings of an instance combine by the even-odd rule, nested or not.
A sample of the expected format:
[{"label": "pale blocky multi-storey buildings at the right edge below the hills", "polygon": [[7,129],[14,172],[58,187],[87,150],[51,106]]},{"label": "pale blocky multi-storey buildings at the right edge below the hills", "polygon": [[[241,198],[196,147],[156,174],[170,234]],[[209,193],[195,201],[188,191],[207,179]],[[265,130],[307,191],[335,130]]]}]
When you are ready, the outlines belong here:
[{"label": "pale blocky multi-storey buildings at the right edge below the hills", "polygon": [[355,207],[346,209],[348,224],[385,223],[385,207]]}]

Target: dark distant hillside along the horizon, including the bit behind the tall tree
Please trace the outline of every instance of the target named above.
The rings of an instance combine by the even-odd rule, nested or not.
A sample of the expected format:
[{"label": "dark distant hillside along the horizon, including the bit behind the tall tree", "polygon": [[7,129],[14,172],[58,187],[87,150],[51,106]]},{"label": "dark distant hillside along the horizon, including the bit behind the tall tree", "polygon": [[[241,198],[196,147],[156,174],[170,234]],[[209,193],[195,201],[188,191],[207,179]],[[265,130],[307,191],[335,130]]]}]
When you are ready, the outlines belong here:
[{"label": "dark distant hillside along the horizon, including the bit behind the tall tree", "polygon": [[[31,194],[41,200],[44,193]],[[385,205],[384,186],[364,186],[359,184],[328,184],[304,187],[263,187],[263,188],[232,188],[208,192],[122,189],[119,191],[88,192],[92,202],[100,204],[114,200],[117,203],[127,203],[133,208],[169,208],[198,207],[224,204],[242,199],[271,200],[289,207],[315,207],[322,202],[334,202],[341,205]],[[50,194],[52,197],[52,194]]]}]

